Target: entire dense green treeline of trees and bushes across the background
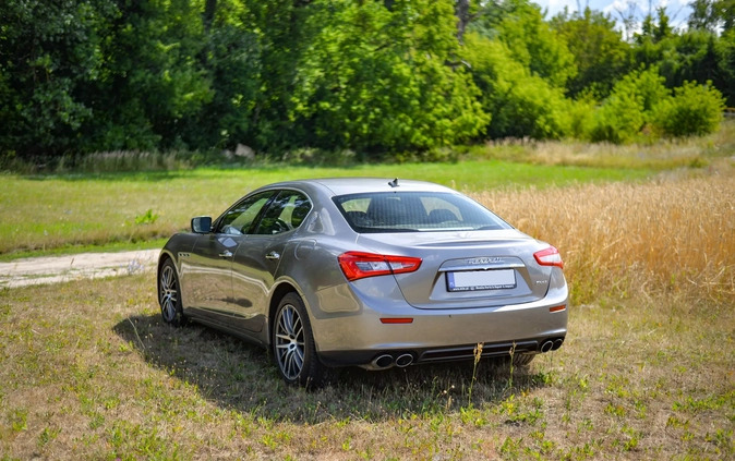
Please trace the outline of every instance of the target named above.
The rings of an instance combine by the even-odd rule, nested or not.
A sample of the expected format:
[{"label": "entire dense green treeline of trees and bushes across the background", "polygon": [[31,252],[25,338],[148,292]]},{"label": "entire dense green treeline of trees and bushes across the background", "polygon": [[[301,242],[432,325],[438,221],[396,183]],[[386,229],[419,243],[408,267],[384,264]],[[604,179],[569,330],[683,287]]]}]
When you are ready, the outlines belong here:
[{"label": "entire dense green treeline of trees and bushes across the background", "polygon": [[735,106],[733,8],[624,39],[528,0],[5,0],[0,160],[698,135]]}]

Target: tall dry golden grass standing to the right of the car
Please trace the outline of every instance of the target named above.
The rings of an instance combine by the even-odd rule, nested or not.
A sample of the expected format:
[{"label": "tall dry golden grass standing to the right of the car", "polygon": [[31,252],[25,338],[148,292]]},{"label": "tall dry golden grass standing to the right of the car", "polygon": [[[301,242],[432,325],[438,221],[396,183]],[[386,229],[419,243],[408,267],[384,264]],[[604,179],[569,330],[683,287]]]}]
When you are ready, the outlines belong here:
[{"label": "tall dry golden grass standing to the right of the car", "polygon": [[587,184],[474,197],[557,246],[575,301],[615,290],[735,299],[735,175]]}]

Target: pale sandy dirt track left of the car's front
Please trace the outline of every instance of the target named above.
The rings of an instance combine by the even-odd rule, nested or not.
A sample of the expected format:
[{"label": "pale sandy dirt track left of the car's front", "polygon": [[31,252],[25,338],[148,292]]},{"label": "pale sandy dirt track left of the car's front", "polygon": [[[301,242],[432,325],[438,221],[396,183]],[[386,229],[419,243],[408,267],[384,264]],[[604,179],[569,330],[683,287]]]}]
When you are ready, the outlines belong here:
[{"label": "pale sandy dirt track left of the car's front", "polygon": [[121,253],[81,253],[0,263],[0,288],[58,283],[153,270],[160,250]]}]

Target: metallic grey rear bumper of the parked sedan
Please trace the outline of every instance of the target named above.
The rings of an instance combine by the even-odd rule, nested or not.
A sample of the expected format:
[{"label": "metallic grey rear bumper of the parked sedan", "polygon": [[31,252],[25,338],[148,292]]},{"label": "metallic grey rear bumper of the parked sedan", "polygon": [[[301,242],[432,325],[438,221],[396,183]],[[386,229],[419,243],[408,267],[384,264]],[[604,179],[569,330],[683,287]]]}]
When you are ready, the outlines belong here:
[{"label": "metallic grey rear bumper of the parked sedan", "polygon": [[[321,294],[322,300],[350,298],[346,292]],[[361,301],[350,310],[312,316],[317,352],[325,365],[371,367],[381,355],[397,359],[407,353],[411,363],[465,360],[473,357],[478,343],[483,343],[483,356],[508,355],[514,344],[515,353],[545,352],[546,341],[563,341],[567,333],[566,283],[550,287],[546,296],[535,302],[481,308],[427,311],[395,301],[389,305]],[[411,318],[411,323],[381,322],[396,317]]]}]

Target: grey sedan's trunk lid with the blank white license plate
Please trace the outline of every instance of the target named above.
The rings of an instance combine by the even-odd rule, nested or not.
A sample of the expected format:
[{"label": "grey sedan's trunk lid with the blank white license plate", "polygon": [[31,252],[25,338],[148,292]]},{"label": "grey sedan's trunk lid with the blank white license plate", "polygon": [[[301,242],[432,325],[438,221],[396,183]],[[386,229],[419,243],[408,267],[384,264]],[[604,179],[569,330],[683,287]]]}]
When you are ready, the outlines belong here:
[{"label": "grey sedan's trunk lid with the blank white license plate", "polygon": [[545,296],[551,268],[533,253],[547,245],[515,230],[361,234],[383,254],[420,257],[421,267],[395,275],[417,308],[450,310],[522,304]]}]

